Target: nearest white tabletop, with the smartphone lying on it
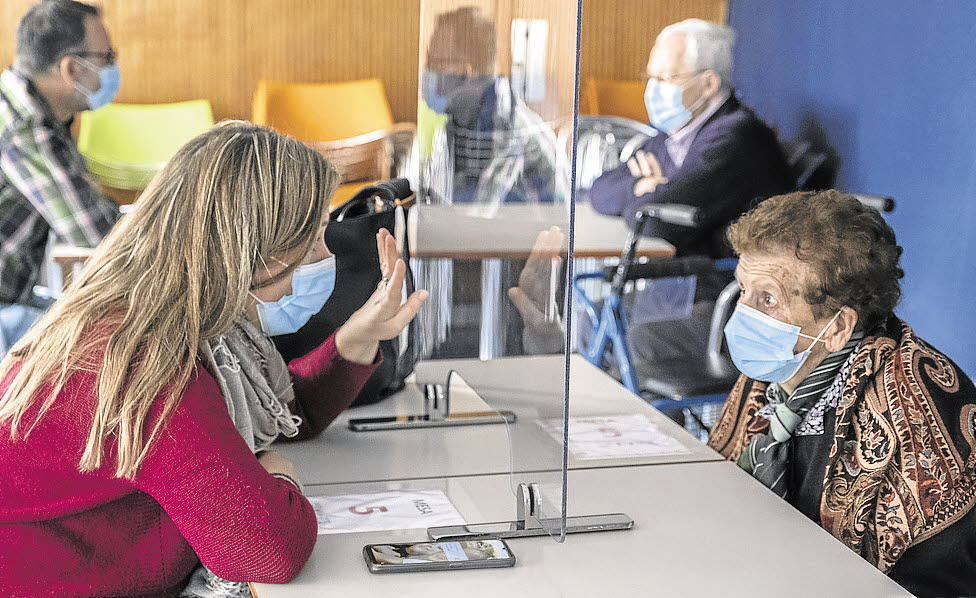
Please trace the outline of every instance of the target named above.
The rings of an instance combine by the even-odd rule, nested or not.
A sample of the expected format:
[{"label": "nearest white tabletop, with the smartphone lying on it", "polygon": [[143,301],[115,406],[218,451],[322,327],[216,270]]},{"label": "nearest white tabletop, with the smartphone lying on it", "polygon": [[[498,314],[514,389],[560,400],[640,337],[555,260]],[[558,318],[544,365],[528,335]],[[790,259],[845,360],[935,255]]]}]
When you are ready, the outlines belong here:
[{"label": "nearest white tabletop, with the smartphone lying on it", "polygon": [[[317,486],[310,494],[440,489],[469,523],[510,519],[507,476]],[[570,514],[622,511],[626,532],[510,541],[511,569],[372,575],[362,547],[425,530],[319,536],[287,585],[258,598],[341,596],[887,598],[910,596],[728,462],[570,472]]]}]

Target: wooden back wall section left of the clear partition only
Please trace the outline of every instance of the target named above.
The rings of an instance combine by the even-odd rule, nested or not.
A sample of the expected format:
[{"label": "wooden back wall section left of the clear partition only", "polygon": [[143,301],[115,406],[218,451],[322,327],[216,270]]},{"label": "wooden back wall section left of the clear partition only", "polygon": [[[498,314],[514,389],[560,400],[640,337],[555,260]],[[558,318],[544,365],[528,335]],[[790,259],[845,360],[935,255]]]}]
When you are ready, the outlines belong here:
[{"label": "wooden back wall section left of the clear partition only", "polygon": [[[34,0],[0,2],[0,63]],[[102,0],[122,102],[207,98],[250,118],[260,79],[383,79],[397,120],[416,119],[420,0]]]}]

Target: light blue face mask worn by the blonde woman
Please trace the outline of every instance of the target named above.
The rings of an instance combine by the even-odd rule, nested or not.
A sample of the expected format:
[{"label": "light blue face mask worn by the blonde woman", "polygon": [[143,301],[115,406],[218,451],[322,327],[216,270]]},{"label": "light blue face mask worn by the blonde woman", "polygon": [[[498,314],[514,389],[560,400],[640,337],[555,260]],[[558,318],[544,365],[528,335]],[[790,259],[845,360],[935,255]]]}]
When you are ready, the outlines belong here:
[{"label": "light blue face mask worn by the blonde woman", "polygon": [[291,279],[291,294],[277,301],[258,302],[258,320],[261,330],[268,336],[291,334],[319,313],[335,290],[335,256],[329,256],[314,264],[295,268]]}]

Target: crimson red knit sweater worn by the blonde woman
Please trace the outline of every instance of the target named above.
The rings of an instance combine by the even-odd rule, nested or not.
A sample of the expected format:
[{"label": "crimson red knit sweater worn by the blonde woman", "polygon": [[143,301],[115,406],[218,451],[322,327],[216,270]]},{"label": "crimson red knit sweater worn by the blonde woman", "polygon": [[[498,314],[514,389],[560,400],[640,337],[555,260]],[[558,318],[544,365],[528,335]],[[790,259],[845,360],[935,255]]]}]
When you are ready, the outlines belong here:
[{"label": "crimson red knit sweater worn by the blonde woman", "polygon": [[[307,432],[345,409],[375,364],[342,359],[330,337],[289,369]],[[78,471],[96,382],[72,376],[26,440],[0,426],[0,596],[168,596],[198,559],[236,581],[298,574],[315,544],[312,507],[251,454],[206,369],[133,480]]]}]

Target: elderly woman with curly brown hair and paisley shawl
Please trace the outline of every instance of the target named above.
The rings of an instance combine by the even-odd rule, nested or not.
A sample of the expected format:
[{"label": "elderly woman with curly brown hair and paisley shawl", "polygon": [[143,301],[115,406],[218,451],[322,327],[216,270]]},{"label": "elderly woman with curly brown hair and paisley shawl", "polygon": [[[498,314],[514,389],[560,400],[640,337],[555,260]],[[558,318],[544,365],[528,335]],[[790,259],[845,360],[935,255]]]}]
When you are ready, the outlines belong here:
[{"label": "elderly woman with curly brown hair and paisley shawl", "polygon": [[710,446],[919,596],[976,595],[976,391],[894,314],[901,247],[838,191],[729,229],[743,375]]}]

